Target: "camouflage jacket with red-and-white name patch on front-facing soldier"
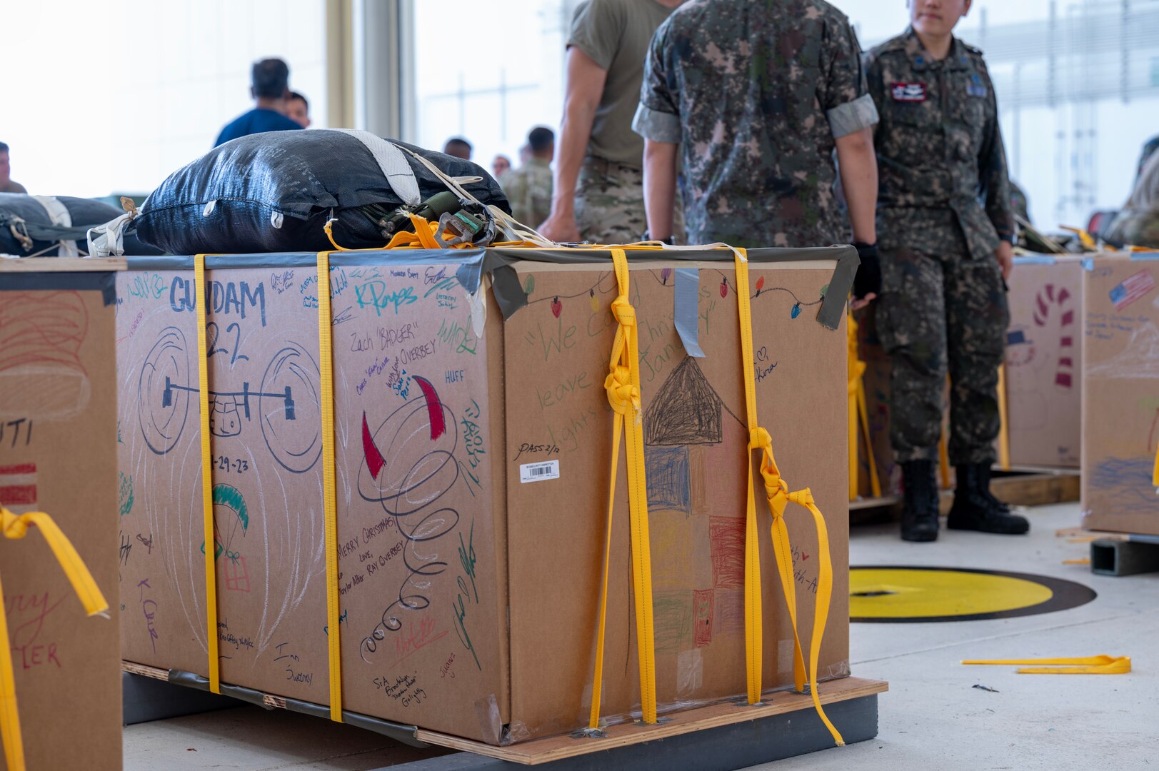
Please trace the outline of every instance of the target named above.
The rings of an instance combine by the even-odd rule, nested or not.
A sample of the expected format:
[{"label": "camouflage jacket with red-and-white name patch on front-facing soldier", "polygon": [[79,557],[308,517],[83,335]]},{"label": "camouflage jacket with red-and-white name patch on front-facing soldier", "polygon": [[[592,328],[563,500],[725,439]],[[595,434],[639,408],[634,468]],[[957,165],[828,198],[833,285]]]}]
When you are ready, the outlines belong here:
[{"label": "camouflage jacket with red-and-white name patch on front-facing soldier", "polygon": [[879,239],[936,249],[942,237],[932,224],[945,223],[950,210],[970,254],[992,255],[999,238],[1013,238],[1014,220],[998,101],[982,52],[954,38],[949,56],[933,60],[911,28],[866,54],[866,75],[881,116],[874,132]]}]

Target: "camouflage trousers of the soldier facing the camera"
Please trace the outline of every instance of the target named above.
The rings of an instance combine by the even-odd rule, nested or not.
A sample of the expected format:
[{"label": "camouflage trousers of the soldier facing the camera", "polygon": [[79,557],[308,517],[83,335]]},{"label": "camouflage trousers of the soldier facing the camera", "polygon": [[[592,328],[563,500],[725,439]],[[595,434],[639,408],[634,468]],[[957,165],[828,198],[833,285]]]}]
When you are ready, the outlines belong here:
[{"label": "camouflage trousers of the soldier facing the camera", "polygon": [[930,235],[938,250],[882,239],[877,333],[892,361],[890,442],[898,463],[938,460],[946,376],[949,459],[990,464],[998,436],[998,365],[1009,308],[998,261],[975,260],[961,232]]}]

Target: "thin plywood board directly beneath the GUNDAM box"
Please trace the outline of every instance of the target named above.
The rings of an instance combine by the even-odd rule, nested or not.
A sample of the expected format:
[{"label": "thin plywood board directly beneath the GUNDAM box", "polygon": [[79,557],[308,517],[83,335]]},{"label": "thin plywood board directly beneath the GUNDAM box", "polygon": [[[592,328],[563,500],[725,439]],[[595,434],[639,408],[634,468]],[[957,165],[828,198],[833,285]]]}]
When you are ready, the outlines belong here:
[{"label": "thin plywood board directly beneath the GUNDAM box", "polygon": [[[845,677],[822,683],[819,690],[821,703],[833,704],[836,701],[847,701],[850,699],[884,693],[889,690],[889,684],[883,681]],[[608,726],[605,729],[607,736],[604,739],[573,739],[569,734],[564,734],[562,736],[549,736],[530,742],[519,742],[509,747],[493,747],[482,742],[450,736],[433,730],[423,730],[422,728],[418,729],[417,737],[428,744],[486,755],[487,757],[494,757],[509,763],[540,765],[589,752],[602,752],[618,747],[669,739],[695,730],[729,726],[746,720],[759,720],[760,718],[790,712],[812,712],[812,699],[801,693],[777,692],[772,694],[768,703],[759,706],[738,705],[731,701],[710,704],[695,710],[686,710],[666,715],[670,720],[656,726],[644,726],[635,722]],[[837,726],[837,728],[840,729],[840,726]]]}]

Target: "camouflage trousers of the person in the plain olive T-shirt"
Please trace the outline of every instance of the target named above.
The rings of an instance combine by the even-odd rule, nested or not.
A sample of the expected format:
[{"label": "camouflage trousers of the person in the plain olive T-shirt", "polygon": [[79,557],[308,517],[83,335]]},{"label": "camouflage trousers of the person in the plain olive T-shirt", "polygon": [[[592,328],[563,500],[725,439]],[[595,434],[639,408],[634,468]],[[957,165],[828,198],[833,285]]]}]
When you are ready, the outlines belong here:
[{"label": "camouflage trousers of the person in the plain olive T-shirt", "polygon": [[[588,155],[576,180],[576,225],[592,243],[632,243],[648,230],[641,169]],[[684,243],[684,208],[676,195],[672,233]]]}]

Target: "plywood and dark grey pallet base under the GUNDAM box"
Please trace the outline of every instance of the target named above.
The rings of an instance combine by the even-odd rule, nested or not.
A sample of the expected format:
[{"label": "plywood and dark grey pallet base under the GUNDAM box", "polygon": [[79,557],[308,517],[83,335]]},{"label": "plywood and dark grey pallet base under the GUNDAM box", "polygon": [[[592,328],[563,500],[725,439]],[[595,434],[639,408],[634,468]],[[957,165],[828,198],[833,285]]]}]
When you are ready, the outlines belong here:
[{"label": "plywood and dark grey pallet base under the GUNDAM box", "polygon": [[[167,681],[156,667],[123,662],[125,672]],[[877,694],[889,690],[882,681],[846,677],[819,685],[825,712],[847,743],[877,735]],[[284,708],[285,699],[267,694],[265,707]],[[833,745],[833,740],[804,694],[775,692],[765,704],[712,704],[668,715],[656,726],[610,726],[603,739],[570,735],[538,739],[510,747],[493,747],[422,728],[414,739],[424,745],[461,750],[400,766],[404,771],[483,771],[509,764],[551,764],[559,771],[632,768],[671,771],[675,768],[738,769],[793,757]]]}]

